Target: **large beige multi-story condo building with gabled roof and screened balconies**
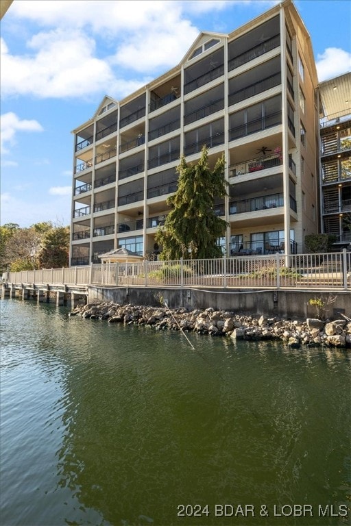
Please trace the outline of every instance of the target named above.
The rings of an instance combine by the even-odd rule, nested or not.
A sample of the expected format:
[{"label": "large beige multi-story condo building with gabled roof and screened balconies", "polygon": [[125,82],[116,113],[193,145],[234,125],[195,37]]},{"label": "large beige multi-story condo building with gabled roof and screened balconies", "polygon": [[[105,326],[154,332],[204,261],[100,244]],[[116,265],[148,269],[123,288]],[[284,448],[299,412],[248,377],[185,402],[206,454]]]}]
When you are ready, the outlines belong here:
[{"label": "large beige multi-story condo building with gabled roof and screened balconies", "polygon": [[[227,255],[304,251],[319,230],[319,115],[311,40],[291,0],[230,34],[202,33],[183,60],[74,134],[71,264],[118,247],[155,257],[180,156],[224,153]],[[346,196],[345,196],[346,199]]]}]

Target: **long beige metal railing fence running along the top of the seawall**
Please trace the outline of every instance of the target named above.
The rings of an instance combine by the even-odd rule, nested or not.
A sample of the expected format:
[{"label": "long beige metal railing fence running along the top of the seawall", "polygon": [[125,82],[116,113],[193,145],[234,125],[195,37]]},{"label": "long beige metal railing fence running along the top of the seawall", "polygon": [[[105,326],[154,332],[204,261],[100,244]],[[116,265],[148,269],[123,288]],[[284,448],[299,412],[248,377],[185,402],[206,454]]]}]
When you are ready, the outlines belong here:
[{"label": "long beige metal railing fence running along the top of the seawall", "polygon": [[351,290],[351,253],[90,264],[8,273],[12,284]]}]

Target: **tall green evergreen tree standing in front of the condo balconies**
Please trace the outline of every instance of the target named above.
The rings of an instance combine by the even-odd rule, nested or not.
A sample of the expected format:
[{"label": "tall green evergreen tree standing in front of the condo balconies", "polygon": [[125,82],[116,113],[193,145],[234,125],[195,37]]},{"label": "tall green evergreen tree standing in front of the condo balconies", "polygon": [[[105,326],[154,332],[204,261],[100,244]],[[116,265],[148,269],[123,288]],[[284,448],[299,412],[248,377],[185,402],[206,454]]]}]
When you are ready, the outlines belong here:
[{"label": "tall green evergreen tree standing in front of the condo balconies", "polygon": [[162,245],[162,260],[186,258],[189,252],[196,259],[221,257],[217,240],[225,234],[227,223],[213,209],[215,198],[226,195],[224,167],[222,155],[210,169],[206,146],[195,165],[188,166],[182,155],[177,168],[178,189],[167,199],[171,212],[156,234],[156,241]]}]

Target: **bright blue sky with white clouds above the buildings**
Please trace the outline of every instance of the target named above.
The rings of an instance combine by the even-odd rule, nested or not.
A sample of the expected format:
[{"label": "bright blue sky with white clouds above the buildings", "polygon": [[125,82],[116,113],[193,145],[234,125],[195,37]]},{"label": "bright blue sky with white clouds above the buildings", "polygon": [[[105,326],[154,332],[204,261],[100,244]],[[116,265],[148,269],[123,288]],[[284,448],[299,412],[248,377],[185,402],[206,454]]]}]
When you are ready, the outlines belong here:
[{"label": "bright blue sky with white clouds above the buildings", "polygon": [[[1,224],[69,225],[73,135],[182,60],[199,32],[229,33],[276,0],[14,0],[1,21]],[[350,0],[295,0],[319,81],[351,70]]]}]

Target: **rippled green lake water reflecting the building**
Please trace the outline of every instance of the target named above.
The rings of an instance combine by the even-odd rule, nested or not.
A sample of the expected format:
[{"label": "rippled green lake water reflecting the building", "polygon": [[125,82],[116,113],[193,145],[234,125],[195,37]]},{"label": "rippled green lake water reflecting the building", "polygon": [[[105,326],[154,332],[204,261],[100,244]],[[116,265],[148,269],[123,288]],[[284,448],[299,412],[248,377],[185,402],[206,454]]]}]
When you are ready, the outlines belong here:
[{"label": "rippled green lake water reflecting the building", "polygon": [[350,351],[0,304],[1,526],[350,524]]}]

